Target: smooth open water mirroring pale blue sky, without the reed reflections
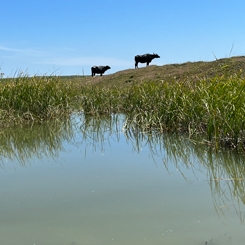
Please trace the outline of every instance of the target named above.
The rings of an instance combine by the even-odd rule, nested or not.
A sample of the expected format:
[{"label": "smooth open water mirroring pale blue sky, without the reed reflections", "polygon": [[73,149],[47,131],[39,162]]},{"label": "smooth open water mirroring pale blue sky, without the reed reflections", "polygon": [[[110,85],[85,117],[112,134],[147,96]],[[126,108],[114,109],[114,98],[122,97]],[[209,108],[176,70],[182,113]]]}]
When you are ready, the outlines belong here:
[{"label": "smooth open water mirroring pale blue sky, without the reed reflections", "polygon": [[125,132],[77,132],[57,157],[4,160],[0,244],[244,244],[244,206],[234,197],[214,205],[222,196],[195,151],[190,165],[169,157],[174,140],[140,142],[138,152]]}]

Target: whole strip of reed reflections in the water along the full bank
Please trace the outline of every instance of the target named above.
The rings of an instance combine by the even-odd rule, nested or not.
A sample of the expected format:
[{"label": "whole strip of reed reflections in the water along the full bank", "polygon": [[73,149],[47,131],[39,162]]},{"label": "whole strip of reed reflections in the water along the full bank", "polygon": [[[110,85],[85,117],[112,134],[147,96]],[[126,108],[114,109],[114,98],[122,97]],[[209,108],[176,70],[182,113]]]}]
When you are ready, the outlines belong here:
[{"label": "whole strip of reed reflections in the water along the full bank", "polygon": [[[105,144],[126,140],[132,149],[139,153],[147,147],[152,159],[162,158],[166,170],[171,174],[170,166],[175,167],[182,177],[189,169],[199,177],[202,171],[210,186],[214,207],[218,215],[234,209],[244,223],[245,214],[241,206],[245,204],[244,155],[234,152],[213,152],[205,145],[186,139],[183,136],[161,135],[154,132],[142,133],[135,125],[125,125],[124,115],[92,118],[84,115],[73,115],[70,120],[60,120],[39,125],[32,125],[2,130],[0,137],[0,159],[17,160],[25,165],[28,159],[43,156],[57,158],[65,151],[64,142],[74,142],[77,135],[85,146],[95,151],[105,151]],[[157,164],[157,161],[155,161]]]}]

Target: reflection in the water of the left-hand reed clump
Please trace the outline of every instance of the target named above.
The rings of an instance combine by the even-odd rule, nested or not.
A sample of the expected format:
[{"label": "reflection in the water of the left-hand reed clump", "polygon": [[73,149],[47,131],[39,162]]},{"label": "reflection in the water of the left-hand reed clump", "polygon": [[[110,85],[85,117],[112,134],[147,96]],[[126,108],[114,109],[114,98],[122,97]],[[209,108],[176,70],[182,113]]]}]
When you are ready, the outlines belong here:
[{"label": "reflection in the water of the left-hand reed clump", "polygon": [[43,156],[58,157],[63,142],[74,136],[72,121],[69,119],[44,122],[23,127],[1,130],[0,161],[18,161],[25,165],[28,159]]}]

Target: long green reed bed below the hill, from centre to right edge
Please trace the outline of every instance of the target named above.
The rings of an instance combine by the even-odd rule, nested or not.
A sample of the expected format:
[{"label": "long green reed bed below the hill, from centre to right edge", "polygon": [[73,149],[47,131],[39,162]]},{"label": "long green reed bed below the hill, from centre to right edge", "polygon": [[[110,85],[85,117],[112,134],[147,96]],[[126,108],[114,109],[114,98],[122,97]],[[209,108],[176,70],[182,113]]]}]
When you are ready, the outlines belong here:
[{"label": "long green reed bed below the hill, from centre to right edge", "polygon": [[118,89],[83,88],[85,114],[124,113],[126,127],[141,131],[205,135],[219,146],[245,144],[245,79],[238,75],[212,79],[146,82]]}]

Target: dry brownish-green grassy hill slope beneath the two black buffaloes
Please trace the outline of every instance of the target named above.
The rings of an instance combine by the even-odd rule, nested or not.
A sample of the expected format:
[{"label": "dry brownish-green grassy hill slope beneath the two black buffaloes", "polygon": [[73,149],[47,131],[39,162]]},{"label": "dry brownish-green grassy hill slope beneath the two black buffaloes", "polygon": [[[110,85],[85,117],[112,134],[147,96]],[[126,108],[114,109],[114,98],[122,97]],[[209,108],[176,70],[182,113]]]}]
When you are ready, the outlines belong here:
[{"label": "dry brownish-green grassy hill slope beneath the two black buffaloes", "polygon": [[90,77],[74,76],[63,79],[81,80],[85,84],[104,86],[127,86],[145,81],[171,81],[213,78],[215,76],[239,74],[245,76],[245,56],[218,59],[211,62],[186,62],[182,64],[167,64],[163,66],[150,65],[139,69],[127,69],[114,74]]}]

